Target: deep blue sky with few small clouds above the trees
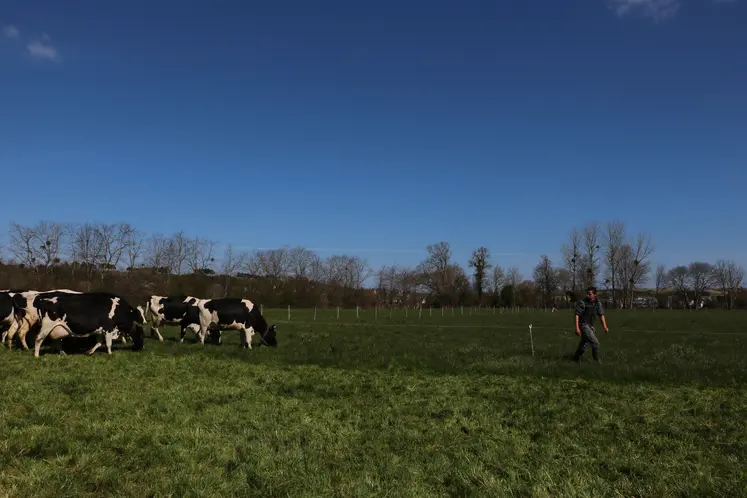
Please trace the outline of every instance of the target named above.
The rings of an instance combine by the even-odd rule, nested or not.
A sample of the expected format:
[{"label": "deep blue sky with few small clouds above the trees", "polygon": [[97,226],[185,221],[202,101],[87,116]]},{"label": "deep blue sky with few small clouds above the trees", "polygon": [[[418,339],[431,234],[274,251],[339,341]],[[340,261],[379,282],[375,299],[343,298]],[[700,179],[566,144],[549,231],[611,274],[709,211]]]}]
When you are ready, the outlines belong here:
[{"label": "deep blue sky with few small clouds above the trees", "polygon": [[5,1],[0,225],[747,264],[747,1]]}]

